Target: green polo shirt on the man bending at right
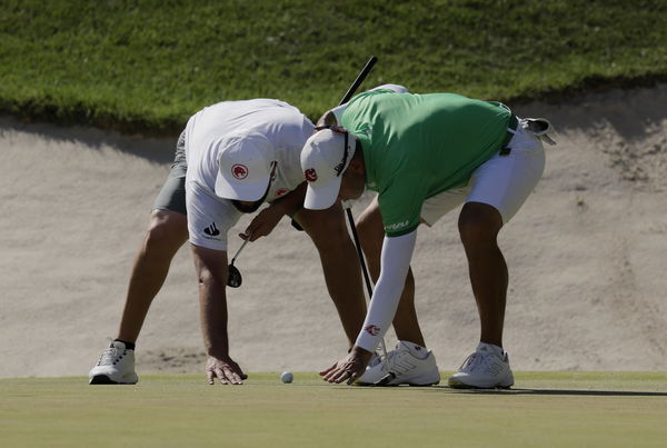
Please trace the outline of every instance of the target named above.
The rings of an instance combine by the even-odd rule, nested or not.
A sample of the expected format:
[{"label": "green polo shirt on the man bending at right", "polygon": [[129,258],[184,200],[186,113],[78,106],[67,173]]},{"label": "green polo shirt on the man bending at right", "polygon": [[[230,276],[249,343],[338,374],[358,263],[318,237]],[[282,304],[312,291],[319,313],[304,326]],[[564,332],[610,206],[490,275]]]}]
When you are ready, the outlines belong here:
[{"label": "green polo shirt on the man bending at right", "polygon": [[427,198],[466,186],[500,150],[510,116],[498,102],[454,93],[356,96],[341,121],[361,141],[366,183],[379,193],[387,236],[415,230]]}]

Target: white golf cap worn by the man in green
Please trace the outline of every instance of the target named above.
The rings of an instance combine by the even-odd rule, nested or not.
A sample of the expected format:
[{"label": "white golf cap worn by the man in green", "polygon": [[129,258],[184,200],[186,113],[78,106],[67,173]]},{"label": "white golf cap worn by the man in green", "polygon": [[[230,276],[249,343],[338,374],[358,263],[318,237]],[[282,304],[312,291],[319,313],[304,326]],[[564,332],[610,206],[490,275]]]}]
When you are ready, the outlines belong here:
[{"label": "white golf cap worn by the man in green", "polygon": [[[355,156],[356,138],[342,128],[323,129],[313,133],[301,151],[301,168],[308,181],[303,207],[328,209],[336,202],[342,173]],[[347,151],[346,151],[347,137]]]}]

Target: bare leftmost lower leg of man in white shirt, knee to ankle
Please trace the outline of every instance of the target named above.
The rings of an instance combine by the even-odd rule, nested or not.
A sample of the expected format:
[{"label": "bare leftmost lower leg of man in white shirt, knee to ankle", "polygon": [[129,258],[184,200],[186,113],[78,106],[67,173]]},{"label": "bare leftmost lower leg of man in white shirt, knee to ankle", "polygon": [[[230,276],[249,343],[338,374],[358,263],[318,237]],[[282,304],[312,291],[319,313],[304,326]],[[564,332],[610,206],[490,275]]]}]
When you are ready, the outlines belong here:
[{"label": "bare leftmost lower leg of man in white shirt, knee to ankle", "polygon": [[137,341],[150,303],[167,278],[171,259],[187,239],[188,220],[185,215],[168,210],[151,212],[130,275],[117,339]]}]

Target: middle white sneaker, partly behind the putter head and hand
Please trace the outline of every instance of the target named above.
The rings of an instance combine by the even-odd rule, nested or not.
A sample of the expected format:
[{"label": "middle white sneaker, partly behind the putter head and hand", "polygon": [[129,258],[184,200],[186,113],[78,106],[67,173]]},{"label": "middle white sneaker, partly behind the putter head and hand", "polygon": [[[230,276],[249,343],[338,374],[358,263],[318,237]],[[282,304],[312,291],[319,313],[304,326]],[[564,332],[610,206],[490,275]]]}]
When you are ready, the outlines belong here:
[{"label": "middle white sneaker, partly behind the putter head and hand", "polygon": [[[424,359],[418,358],[421,354]],[[416,356],[417,355],[417,356]],[[412,342],[398,341],[396,349],[387,354],[389,371],[395,377],[381,386],[431,386],[440,382],[436,357],[430,350]],[[364,386],[378,385],[389,374],[380,357],[375,357],[357,382]]]}]

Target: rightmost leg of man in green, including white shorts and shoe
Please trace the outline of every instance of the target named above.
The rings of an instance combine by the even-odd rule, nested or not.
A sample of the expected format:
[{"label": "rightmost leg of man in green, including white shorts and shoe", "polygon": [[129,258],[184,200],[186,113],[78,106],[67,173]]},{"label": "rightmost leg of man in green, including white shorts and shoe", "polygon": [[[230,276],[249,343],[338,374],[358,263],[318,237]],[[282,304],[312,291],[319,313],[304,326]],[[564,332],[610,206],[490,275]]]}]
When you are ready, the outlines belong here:
[{"label": "rightmost leg of man in green, including white shorts and shoe", "polygon": [[480,342],[452,375],[451,387],[510,387],[514,375],[502,348],[508,272],[497,237],[535,189],[545,168],[539,139],[519,126],[508,147],[482,163],[470,180],[459,216],[470,285],[480,320]]}]

